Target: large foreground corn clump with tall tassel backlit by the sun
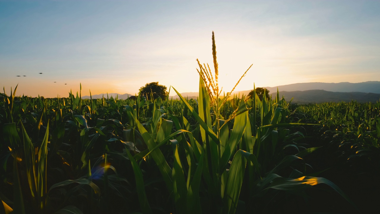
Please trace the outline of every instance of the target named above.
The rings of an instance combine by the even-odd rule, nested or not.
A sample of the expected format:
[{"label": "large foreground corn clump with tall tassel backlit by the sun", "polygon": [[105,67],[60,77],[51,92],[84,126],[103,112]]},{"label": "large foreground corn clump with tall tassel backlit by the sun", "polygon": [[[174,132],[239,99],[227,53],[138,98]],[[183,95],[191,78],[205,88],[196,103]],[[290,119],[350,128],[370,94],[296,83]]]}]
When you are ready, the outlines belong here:
[{"label": "large foreground corn clump with tall tassel backlit by the sun", "polygon": [[[244,99],[240,100],[229,118],[226,120],[223,118],[219,112],[228,96],[223,99],[218,98],[220,92],[217,83],[214,34],[212,40],[215,78],[212,77],[209,66],[201,65],[198,61],[200,68],[198,112],[173,88],[185,108],[199,124],[195,129],[190,126],[182,113],[179,118],[170,115],[172,121],[169,121],[162,119],[165,113],[155,110],[152,122],[145,127],[139,122],[136,112],[130,109],[129,113],[133,119],[131,126],[137,127],[149,149],[146,155],[143,157],[138,155],[136,160],[146,160],[150,157],[156,163],[170,200],[174,204],[170,212],[235,213],[239,204],[242,209],[252,197],[265,194],[269,189],[290,191],[320,183],[330,185],[348,200],[344,193],[327,179],[305,176],[298,170],[294,171],[290,178],[275,174],[293,161],[302,160],[302,157],[317,149],[309,148],[296,155],[285,156],[279,163],[277,162],[277,166],[270,163],[277,154],[279,141],[298,134],[290,135],[289,130],[283,128],[305,125],[283,122],[286,112],[281,104],[285,102],[280,103],[278,95],[277,102],[273,105],[266,99],[258,102],[257,97],[253,98],[261,119],[260,126],[254,125],[253,128],[257,128],[256,136],[252,136],[249,109]],[[256,115],[256,112],[254,114]],[[229,121],[233,121],[231,131],[228,127]],[[173,123],[177,131],[170,134]],[[173,147],[173,163],[168,163],[160,150],[160,147],[166,144],[171,144]],[[283,146],[286,145],[281,145]],[[248,169],[246,169],[247,162],[249,162]],[[247,170],[249,176],[245,176]],[[138,169],[135,173],[138,173]],[[247,182],[250,184],[249,196],[239,200],[244,179],[248,179]],[[140,202],[142,206],[142,203],[147,203],[145,193],[138,193],[139,198],[143,198]]]}]

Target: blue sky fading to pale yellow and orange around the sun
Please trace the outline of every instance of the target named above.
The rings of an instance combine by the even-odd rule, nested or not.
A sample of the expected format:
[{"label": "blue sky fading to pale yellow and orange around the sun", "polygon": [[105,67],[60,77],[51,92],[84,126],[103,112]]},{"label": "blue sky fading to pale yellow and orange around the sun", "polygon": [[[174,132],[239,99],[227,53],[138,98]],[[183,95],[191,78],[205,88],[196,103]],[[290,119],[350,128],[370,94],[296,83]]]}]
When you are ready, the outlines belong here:
[{"label": "blue sky fading to pale yellow and orange around the sun", "polygon": [[82,96],[135,94],[157,81],[195,92],[196,59],[213,67],[212,31],[226,91],[251,64],[236,91],[380,81],[379,11],[375,0],[0,0],[0,86],[33,97],[80,84]]}]

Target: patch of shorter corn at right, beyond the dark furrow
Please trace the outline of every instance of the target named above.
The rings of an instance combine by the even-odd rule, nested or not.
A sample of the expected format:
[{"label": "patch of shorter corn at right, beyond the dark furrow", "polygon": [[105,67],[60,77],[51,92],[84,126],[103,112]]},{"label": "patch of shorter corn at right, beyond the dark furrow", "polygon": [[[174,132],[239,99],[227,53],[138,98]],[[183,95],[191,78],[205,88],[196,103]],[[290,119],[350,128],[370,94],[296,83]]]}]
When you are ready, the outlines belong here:
[{"label": "patch of shorter corn at right, beyond the dark furrow", "polygon": [[372,171],[380,164],[379,107],[380,102],[363,104],[352,101],[298,105],[296,110],[302,120],[321,125],[314,127],[312,133],[328,142],[325,146],[331,153],[337,153],[337,160],[361,171],[366,168]]}]

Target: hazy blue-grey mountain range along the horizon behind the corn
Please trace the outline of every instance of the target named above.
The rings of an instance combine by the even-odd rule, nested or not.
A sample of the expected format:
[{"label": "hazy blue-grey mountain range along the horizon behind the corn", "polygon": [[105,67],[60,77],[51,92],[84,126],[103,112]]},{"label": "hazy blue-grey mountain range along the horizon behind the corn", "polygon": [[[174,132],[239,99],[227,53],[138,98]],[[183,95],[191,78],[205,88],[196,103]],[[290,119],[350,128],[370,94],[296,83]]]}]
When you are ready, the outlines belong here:
[{"label": "hazy blue-grey mountain range along the horizon behind the corn", "polygon": [[[356,100],[358,102],[376,102],[380,99],[380,81],[367,81],[362,83],[294,83],[290,85],[280,85],[276,87],[263,87],[269,90],[270,94],[277,93],[279,89],[280,96],[293,103],[318,103],[318,102],[340,102]],[[247,95],[251,90],[235,91],[237,96]],[[197,99],[198,92],[181,93],[188,99]],[[104,94],[107,97],[107,94]],[[119,99],[127,99],[131,94],[110,93],[109,97],[118,96]],[[93,99],[102,98],[103,94],[93,95]],[[82,96],[83,99],[90,99],[90,96]],[[170,96],[171,99],[179,99],[178,95]]]}]

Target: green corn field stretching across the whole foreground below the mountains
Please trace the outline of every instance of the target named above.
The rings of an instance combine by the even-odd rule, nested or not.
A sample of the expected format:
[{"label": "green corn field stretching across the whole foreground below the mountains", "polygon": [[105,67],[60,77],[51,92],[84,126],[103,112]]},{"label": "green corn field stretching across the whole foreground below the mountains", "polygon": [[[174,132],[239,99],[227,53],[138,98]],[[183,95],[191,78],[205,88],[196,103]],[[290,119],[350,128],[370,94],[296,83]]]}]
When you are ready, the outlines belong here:
[{"label": "green corn field stretching across the whole foreground below the mountains", "polygon": [[292,206],[320,186],[359,213],[313,154],[379,167],[380,103],[221,96],[213,56],[198,99],[0,97],[0,212],[314,212]]}]

